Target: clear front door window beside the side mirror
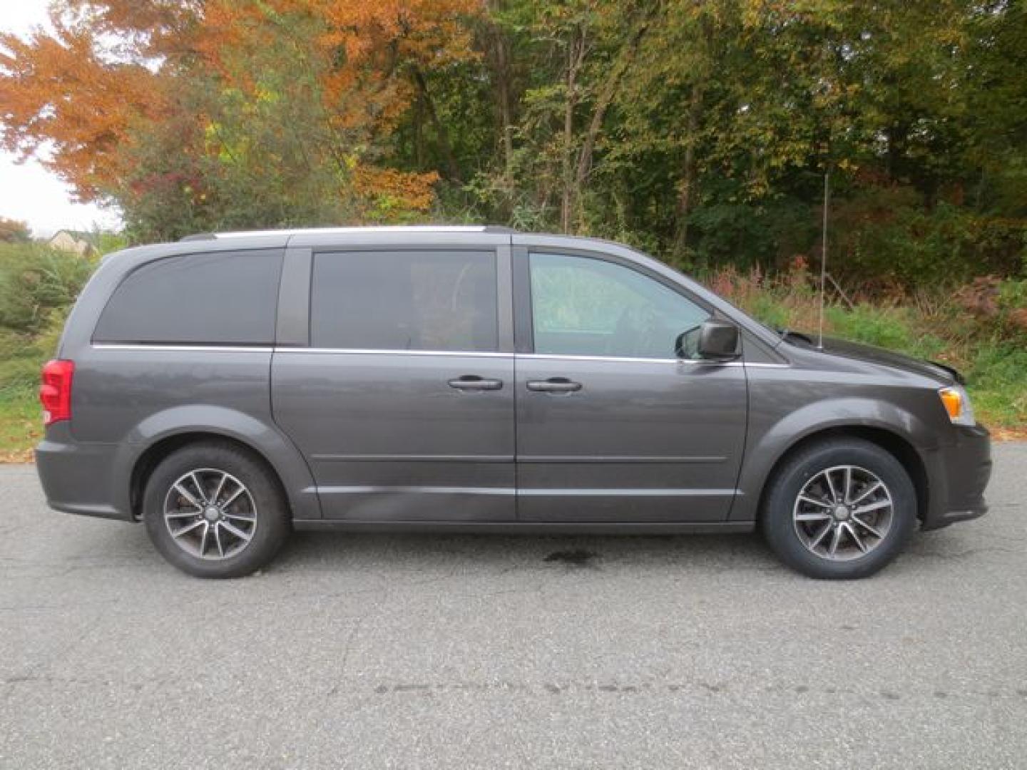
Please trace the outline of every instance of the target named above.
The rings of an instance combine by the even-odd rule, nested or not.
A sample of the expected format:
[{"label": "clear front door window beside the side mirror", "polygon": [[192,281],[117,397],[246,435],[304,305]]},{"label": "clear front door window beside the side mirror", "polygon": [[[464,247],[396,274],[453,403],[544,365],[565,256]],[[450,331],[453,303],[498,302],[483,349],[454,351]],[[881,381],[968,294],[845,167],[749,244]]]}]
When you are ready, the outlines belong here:
[{"label": "clear front door window beside the side mirror", "polygon": [[529,264],[536,353],[673,359],[678,337],[710,317],[662,283],[612,262],[531,254]]}]

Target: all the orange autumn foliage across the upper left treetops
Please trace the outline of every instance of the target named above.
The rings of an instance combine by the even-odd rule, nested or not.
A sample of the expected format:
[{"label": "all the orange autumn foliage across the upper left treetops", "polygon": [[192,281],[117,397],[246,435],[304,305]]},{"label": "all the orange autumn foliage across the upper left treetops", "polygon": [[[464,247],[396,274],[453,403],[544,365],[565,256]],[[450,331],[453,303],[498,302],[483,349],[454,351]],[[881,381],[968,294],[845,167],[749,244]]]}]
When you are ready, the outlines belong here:
[{"label": "all the orange autumn foliage across the upper left treetops", "polygon": [[[275,55],[294,68],[299,57],[322,106],[324,125],[310,133],[324,146],[311,146],[310,162],[337,165],[374,205],[424,211],[438,175],[379,167],[373,146],[410,109],[415,70],[472,55],[459,20],[482,9],[481,0],[59,0],[52,33],[0,36],[0,143],[23,155],[49,150],[47,164],[80,197],[117,197],[130,186],[134,127],[181,121],[176,93],[190,78],[287,99],[268,94],[262,75]],[[214,120],[186,119],[200,123],[198,136]]]}]

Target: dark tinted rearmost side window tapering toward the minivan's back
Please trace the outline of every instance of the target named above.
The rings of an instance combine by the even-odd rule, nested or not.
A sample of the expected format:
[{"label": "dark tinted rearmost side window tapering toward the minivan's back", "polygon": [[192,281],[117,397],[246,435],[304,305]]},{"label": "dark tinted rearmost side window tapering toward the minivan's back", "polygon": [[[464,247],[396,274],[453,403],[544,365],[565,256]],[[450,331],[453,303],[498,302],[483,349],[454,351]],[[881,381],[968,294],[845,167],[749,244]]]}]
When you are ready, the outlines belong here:
[{"label": "dark tinted rearmost side window tapering toward the minivan's back", "polygon": [[139,268],[111,295],[96,342],[274,342],[280,249],[189,254]]}]

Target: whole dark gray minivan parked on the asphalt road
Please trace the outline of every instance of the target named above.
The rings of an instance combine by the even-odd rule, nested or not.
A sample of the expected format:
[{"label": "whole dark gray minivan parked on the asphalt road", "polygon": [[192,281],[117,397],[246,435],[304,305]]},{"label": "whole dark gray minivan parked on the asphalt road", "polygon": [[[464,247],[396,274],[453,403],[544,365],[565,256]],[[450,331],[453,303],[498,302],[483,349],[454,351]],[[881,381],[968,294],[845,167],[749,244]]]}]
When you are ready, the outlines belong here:
[{"label": "whole dark gray minivan parked on the asphalt road", "polygon": [[42,373],[49,505],[200,577],[293,529],[760,528],[857,578],[980,516],[953,370],[776,333],[626,246],[491,227],[191,236],[108,257]]}]

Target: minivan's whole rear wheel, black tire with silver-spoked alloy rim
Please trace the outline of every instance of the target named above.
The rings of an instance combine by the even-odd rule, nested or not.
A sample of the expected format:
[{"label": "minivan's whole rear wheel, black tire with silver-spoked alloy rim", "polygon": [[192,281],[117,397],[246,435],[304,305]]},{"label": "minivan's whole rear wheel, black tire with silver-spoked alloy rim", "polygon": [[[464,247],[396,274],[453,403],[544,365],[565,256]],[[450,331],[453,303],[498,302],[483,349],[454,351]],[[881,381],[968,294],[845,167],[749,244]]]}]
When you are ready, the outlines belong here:
[{"label": "minivan's whole rear wheel, black tire with silver-spoked alloy rim", "polygon": [[[218,474],[227,474],[244,491],[223,509],[218,505],[196,505],[195,483],[183,482],[180,488],[175,487],[183,477],[192,478],[191,471],[198,471],[199,486],[205,487],[207,500],[217,494],[220,501],[227,501],[237,489],[226,480],[226,491],[220,492],[223,488],[217,486]],[[185,496],[180,489],[185,490]],[[196,501],[188,503],[189,496]],[[173,518],[165,519],[165,504],[168,510],[176,511]],[[189,518],[193,506],[201,512]],[[221,510],[221,521],[216,511],[211,513],[214,521],[206,521],[204,511],[211,508]],[[180,514],[178,510],[185,512]],[[274,557],[292,529],[288,502],[271,469],[245,450],[222,441],[191,444],[161,460],[147,480],[143,521],[160,554],[183,572],[200,578],[236,578],[259,570]],[[218,535],[216,544],[206,536],[198,544],[198,534],[182,534],[182,530],[196,523],[200,523],[197,533],[211,530]],[[223,526],[230,526],[242,535],[250,534],[250,539],[236,537]],[[173,527],[180,528],[177,538],[172,535]],[[200,557],[198,553],[207,555]]]}]

